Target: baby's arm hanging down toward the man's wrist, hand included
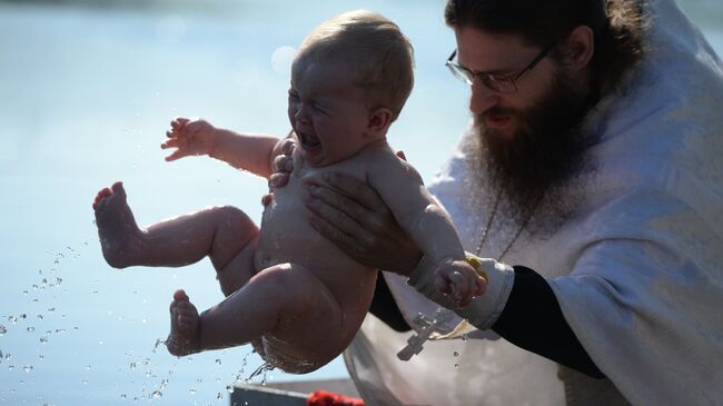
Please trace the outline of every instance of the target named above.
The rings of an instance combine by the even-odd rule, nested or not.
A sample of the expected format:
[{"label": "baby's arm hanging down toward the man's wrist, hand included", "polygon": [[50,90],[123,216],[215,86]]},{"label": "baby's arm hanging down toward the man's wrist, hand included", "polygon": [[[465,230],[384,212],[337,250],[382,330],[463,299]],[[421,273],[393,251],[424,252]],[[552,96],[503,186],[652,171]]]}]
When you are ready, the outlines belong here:
[{"label": "baby's arm hanging down toward the man's wrist, hand included", "polygon": [[464,306],[484,290],[484,279],[466,263],[452,219],[424,187],[419,174],[393,154],[368,166],[368,182],[395,219],[436,265],[437,289]]}]

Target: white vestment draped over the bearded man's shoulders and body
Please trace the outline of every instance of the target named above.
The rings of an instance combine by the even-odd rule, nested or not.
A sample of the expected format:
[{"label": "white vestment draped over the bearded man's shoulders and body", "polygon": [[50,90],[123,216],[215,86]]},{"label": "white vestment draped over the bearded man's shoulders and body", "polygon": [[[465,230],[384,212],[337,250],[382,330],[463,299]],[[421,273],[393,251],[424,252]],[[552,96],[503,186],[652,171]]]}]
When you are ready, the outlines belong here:
[{"label": "white vestment draped over the bearded man's shoulders and body", "polygon": [[[573,216],[544,238],[523,232],[503,258],[547,279],[607,379],[492,330],[427,341],[402,362],[409,334],[369,316],[345,353],[367,405],[723,404],[723,70],[673,0],[652,1],[647,17],[651,49],[632,87],[587,120],[600,141]],[[430,190],[474,251],[492,199],[471,180],[464,142]],[[497,257],[509,228],[498,216],[481,256]],[[385,278],[407,320],[437,309]]]}]

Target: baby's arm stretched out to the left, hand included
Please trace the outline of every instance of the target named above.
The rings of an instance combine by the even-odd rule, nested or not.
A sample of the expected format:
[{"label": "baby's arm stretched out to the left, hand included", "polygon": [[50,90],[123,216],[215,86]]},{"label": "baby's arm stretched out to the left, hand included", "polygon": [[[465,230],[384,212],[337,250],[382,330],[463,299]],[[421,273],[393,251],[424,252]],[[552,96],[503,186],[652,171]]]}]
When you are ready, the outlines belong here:
[{"label": "baby's arm stretched out to the left, hand included", "polygon": [[284,139],[278,137],[239,133],[216,128],[202,119],[176,118],[166,132],[168,140],[161,148],[177,148],[166,160],[208,155],[230,166],[268,178],[274,158],[281,154]]}]

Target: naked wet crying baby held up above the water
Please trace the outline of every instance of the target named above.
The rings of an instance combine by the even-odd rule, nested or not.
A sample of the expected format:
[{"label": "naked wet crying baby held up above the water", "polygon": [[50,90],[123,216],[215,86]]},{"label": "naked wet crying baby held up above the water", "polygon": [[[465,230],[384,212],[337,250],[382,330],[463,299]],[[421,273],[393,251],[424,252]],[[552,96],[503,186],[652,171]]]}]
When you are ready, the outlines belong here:
[{"label": "naked wet crying baby held up above the water", "polygon": [[[170,305],[168,350],[177,356],[251,343],[265,360],[308,373],[338,356],[372,301],[376,269],[353,260],[308,222],[308,184],[335,171],[370,185],[396,220],[437,264],[440,290],[467,304],[484,280],[465,261],[445,210],[417,171],[386,142],[414,82],[413,50],[399,28],[368,11],[317,27],[291,68],[288,116],[294,170],[257,227],[234,207],[212,207],[141,229],[120,182],[93,209],[103,257],[112,267],[184,266],[208,256],[226,299],[198,314],[184,290]],[[167,160],[208,155],[268,178],[288,139],[241,135],[177,118]]]}]

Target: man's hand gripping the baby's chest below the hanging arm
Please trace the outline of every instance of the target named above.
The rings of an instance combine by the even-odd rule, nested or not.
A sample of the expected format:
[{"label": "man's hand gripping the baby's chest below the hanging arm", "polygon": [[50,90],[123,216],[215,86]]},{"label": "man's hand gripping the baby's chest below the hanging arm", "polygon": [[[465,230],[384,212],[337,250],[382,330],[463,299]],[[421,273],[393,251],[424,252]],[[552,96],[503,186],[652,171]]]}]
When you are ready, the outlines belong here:
[{"label": "man's hand gripping the baby's chest below the hanging arm", "polygon": [[324,180],[327,185],[309,184],[311,226],[358,263],[408,275],[422,252],[376,191],[341,174]]}]

